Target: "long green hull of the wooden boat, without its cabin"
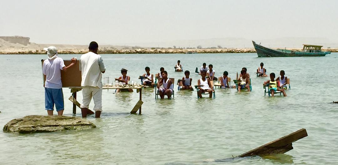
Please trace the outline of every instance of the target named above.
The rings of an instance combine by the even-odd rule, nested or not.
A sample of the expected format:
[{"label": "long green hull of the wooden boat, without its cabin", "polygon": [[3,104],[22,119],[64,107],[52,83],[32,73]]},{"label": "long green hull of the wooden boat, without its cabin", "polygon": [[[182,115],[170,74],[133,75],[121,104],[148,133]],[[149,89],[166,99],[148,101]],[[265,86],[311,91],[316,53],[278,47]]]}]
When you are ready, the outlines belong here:
[{"label": "long green hull of the wooden boat, without its cabin", "polygon": [[275,50],[258,45],[254,41],[252,41],[252,43],[254,44],[258,57],[315,57],[330,54],[330,52],[307,53],[307,52],[293,52],[290,50],[286,50],[289,52],[283,52],[284,50]]}]

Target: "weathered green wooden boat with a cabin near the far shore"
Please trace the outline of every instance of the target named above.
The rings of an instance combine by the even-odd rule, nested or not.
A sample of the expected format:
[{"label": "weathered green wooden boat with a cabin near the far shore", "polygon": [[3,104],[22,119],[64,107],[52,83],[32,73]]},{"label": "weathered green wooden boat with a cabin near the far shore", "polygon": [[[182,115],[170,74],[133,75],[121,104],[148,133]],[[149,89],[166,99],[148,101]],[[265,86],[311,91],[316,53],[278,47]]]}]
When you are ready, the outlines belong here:
[{"label": "weathered green wooden boat with a cabin near the far shore", "polygon": [[322,52],[319,45],[306,45],[303,44],[302,51],[293,51],[287,49],[270,49],[262,46],[261,44],[256,44],[255,41],[252,41],[254,47],[257,51],[258,57],[314,57],[314,56],[325,56],[331,52]]}]

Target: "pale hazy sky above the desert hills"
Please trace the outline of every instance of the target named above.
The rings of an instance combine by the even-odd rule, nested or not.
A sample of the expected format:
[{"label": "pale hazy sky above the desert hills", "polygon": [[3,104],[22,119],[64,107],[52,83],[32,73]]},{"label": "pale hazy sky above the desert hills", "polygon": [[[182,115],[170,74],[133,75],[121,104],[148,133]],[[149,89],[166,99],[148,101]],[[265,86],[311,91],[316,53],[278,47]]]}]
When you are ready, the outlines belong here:
[{"label": "pale hazy sky above the desert hills", "polygon": [[0,0],[0,36],[99,44],[237,37],[337,41],[337,0]]}]

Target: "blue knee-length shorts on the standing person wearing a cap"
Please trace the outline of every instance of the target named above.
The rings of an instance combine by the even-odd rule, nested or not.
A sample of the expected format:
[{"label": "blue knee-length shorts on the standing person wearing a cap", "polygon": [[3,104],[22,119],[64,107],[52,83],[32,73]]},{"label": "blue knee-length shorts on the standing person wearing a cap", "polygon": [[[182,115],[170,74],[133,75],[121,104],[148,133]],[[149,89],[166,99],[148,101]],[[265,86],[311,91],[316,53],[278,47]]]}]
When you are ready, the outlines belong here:
[{"label": "blue knee-length shorts on the standing person wearing a cap", "polygon": [[53,111],[54,104],[56,111],[62,111],[65,109],[62,88],[45,88],[45,110]]}]

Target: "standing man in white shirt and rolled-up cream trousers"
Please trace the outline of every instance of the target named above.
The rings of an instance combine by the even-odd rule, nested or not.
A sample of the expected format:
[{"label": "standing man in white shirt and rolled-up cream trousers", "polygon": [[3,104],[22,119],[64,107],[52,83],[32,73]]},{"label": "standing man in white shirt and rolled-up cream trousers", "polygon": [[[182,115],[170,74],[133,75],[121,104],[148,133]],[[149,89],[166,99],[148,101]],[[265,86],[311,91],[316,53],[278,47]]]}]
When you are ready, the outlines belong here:
[{"label": "standing man in white shirt and rolled-up cream trousers", "polygon": [[89,103],[93,97],[95,117],[99,118],[102,112],[102,73],[105,72],[102,57],[97,54],[99,45],[93,41],[89,44],[89,52],[81,55],[80,71],[82,74],[82,117],[91,112]]}]

